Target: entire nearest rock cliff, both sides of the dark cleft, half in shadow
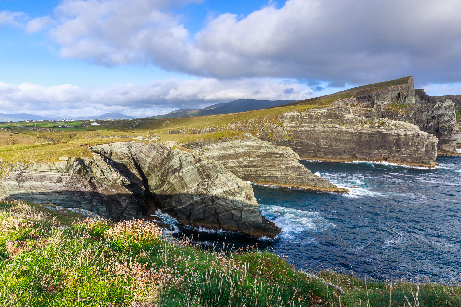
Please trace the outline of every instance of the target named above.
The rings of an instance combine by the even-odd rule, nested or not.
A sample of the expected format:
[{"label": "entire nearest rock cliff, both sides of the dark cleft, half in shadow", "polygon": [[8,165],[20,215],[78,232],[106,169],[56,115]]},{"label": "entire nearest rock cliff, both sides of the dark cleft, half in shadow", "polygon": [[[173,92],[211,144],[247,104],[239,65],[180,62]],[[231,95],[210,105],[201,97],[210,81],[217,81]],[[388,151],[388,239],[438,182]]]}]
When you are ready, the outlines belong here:
[{"label": "entire nearest rock cliff, both sides of the dark cleft, half in shadow", "polygon": [[54,163],[2,163],[0,197],[77,207],[114,220],[149,207],[186,225],[274,237],[280,228],[260,212],[253,188],[219,162],[186,148],[111,143],[93,158]]}]

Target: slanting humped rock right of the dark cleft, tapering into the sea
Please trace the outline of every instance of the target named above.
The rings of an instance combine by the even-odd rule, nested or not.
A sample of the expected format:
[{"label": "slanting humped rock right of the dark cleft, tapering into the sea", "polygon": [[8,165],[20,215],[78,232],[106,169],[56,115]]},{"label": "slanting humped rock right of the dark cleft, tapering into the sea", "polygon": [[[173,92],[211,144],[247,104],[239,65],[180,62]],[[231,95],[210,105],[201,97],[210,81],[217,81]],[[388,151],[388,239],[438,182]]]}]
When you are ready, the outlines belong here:
[{"label": "slanting humped rock right of the dark cleft, tapering into the sea", "polygon": [[[262,216],[250,184],[221,164],[186,148],[163,144],[112,143],[90,147],[115,162],[137,197],[151,197],[162,212],[183,224],[274,237],[280,228]],[[148,191],[146,191],[148,190]],[[142,195],[141,195],[142,193]]]}]

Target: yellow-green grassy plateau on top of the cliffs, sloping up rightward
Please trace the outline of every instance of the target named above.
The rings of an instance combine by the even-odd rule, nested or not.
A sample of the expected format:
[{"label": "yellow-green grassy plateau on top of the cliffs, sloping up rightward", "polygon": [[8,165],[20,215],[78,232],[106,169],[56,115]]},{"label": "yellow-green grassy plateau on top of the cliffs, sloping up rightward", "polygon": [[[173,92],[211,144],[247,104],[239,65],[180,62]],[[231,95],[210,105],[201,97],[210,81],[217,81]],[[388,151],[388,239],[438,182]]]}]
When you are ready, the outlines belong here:
[{"label": "yellow-green grassy plateau on top of the cliffs, sloping up rightward", "polygon": [[[291,106],[277,109],[254,110],[243,113],[174,119],[138,118],[129,121],[102,121],[100,126],[84,125],[77,128],[55,129],[52,123],[39,122],[37,127],[18,128],[0,126],[0,162],[56,162],[59,156],[80,158],[85,146],[113,142],[191,142],[198,139],[238,137],[237,131],[217,131],[205,134],[170,134],[171,130],[229,127],[234,122],[271,118],[290,110],[306,110],[317,106]],[[30,124],[30,123],[29,123]],[[32,125],[32,124],[30,124]],[[35,125],[35,123],[34,123]],[[77,126],[77,124],[76,124]]]}]

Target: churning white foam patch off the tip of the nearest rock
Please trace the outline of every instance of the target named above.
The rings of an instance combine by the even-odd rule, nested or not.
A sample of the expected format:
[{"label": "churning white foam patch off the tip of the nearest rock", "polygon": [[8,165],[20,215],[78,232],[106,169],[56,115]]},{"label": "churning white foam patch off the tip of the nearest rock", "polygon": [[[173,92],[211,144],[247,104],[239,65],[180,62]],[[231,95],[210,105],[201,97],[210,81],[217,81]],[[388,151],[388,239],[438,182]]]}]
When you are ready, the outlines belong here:
[{"label": "churning white foam patch off the tip of the nearest rock", "polygon": [[335,225],[325,220],[318,212],[285,208],[277,205],[261,205],[261,213],[282,228],[278,237],[293,239],[301,232],[322,232]]}]

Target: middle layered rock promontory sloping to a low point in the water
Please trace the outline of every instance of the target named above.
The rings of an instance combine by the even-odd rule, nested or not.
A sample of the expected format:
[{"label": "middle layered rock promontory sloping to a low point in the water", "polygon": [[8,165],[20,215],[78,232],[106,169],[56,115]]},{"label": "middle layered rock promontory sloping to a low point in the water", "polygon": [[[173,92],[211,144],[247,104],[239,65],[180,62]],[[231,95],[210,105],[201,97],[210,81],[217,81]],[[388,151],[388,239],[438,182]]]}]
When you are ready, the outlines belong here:
[{"label": "middle layered rock promontory sloping to a low point in the water", "polygon": [[325,178],[301,165],[299,156],[285,146],[275,146],[246,134],[238,138],[200,140],[183,145],[208,159],[219,161],[245,181],[344,193]]}]

